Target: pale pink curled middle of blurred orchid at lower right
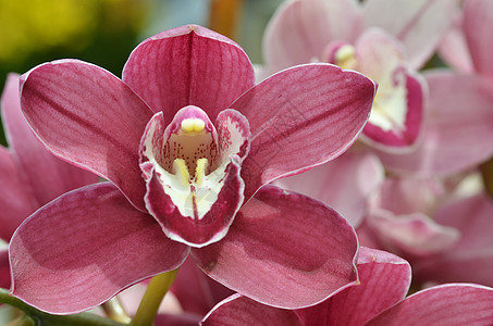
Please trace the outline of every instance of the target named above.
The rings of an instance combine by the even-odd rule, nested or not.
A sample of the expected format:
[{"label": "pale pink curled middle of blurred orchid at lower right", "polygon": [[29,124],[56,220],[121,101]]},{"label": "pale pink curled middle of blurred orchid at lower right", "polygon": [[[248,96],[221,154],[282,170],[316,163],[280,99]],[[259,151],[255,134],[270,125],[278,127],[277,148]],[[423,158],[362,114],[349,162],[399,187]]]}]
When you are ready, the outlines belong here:
[{"label": "pale pink curled middle of blurred orchid at lower right", "polygon": [[459,238],[459,230],[433,220],[446,196],[439,179],[387,177],[370,200],[365,227],[379,248],[407,260],[445,252]]}]

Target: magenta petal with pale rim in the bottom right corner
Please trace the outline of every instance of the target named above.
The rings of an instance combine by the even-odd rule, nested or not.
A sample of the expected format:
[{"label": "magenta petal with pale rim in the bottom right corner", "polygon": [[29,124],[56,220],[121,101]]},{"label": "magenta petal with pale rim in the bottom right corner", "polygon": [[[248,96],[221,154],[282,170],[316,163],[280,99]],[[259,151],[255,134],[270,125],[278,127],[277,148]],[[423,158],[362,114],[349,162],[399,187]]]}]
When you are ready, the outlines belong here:
[{"label": "magenta petal with pale rim in the bottom right corner", "polygon": [[448,284],[419,291],[366,325],[491,325],[493,289]]}]

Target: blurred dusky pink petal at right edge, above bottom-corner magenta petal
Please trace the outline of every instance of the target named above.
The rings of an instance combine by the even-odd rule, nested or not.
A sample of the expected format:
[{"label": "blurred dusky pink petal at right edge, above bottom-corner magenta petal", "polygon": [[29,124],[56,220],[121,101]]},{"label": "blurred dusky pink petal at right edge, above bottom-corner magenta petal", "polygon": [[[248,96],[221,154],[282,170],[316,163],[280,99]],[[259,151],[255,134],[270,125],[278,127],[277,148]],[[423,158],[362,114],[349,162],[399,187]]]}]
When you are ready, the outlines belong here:
[{"label": "blurred dusky pink petal at right edge, above bottom-corner magenta petal", "polygon": [[436,223],[460,230],[460,239],[443,254],[416,262],[422,280],[471,281],[493,286],[493,203],[485,195],[452,201],[442,206]]}]

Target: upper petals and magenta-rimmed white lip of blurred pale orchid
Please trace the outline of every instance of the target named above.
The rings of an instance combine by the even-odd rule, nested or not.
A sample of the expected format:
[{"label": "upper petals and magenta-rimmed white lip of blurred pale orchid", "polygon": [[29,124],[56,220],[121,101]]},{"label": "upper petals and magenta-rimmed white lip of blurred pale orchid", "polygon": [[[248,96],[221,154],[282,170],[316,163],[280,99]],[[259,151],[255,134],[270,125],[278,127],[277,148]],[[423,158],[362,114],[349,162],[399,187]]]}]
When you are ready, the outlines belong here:
[{"label": "upper petals and magenta-rimmed white lip of blurred pale orchid", "polygon": [[[427,86],[415,71],[433,54],[456,1],[286,1],[263,38],[264,71],[331,62],[379,84],[361,139],[392,154],[420,139]],[[407,54],[406,54],[407,53]]]}]

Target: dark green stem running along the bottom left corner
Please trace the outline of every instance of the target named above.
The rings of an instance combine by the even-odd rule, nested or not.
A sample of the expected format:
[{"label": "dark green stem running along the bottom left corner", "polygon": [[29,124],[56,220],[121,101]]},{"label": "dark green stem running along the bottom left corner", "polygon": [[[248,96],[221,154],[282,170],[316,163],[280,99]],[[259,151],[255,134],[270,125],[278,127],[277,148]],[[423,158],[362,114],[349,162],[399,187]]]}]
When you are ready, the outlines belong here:
[{"label": "dark green stem running along the bottom left corner", "polygon": [[111,321],[91,313],[79,313],[74,315],[51,315],[37,310],[34,306],[9,294],[9,291],[0,288],[0,302],[23,311],[26,316],[35,321],[38,326],[124,326],[122,323]]}]

